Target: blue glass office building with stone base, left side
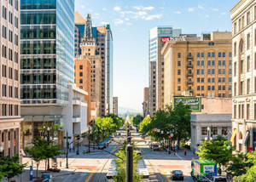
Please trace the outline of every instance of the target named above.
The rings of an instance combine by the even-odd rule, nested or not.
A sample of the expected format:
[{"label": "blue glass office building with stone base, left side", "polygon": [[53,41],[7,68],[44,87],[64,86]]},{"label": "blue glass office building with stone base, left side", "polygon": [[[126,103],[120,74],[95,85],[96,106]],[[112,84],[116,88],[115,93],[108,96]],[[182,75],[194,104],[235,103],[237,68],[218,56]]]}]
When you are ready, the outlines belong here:
[{"label": "blue glass office building with stone base, left side", "polygon": [[68,83],[74,82],[74,1],[20,3],[21,116],[31,143],[47,123],[66,119]]}]

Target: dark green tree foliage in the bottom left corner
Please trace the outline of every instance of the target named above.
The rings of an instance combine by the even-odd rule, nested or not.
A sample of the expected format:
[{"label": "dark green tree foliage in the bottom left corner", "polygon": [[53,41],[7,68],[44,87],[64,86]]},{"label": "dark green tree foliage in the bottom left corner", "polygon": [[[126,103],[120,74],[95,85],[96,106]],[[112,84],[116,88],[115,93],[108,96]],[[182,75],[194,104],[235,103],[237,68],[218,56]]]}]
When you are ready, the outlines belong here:
[{"label": "dark green tree foliage in the bottom left corner", "polygon": [[26,164],[20,164],[19,156],[2,156],[0,158],[0,174],[9,179],[14,178],[20,173],[23,173],[23,169],[26,167]]}]

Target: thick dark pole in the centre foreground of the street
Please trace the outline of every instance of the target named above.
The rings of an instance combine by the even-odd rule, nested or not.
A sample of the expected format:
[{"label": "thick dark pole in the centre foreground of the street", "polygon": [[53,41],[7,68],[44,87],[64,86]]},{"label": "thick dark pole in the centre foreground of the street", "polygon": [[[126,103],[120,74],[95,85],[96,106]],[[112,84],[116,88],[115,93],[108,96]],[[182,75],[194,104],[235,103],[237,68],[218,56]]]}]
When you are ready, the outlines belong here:
[{"label": "thick dark pole in the centre foreground of the street", "polygon": [[132,182],[133,174],[133,146],[131,144],[126,145],[126,181]]}]

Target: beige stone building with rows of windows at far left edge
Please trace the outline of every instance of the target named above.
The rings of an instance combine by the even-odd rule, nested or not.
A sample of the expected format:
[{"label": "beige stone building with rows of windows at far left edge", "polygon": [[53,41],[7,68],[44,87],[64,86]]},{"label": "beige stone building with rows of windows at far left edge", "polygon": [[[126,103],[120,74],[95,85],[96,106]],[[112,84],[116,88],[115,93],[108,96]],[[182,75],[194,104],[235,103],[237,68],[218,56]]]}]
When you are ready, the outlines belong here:
[{"label": "beige stone building with rows of windows at far left edge", "polygon": [[20,1],[1,1],[0,147],[3,156],[20,149]]}]

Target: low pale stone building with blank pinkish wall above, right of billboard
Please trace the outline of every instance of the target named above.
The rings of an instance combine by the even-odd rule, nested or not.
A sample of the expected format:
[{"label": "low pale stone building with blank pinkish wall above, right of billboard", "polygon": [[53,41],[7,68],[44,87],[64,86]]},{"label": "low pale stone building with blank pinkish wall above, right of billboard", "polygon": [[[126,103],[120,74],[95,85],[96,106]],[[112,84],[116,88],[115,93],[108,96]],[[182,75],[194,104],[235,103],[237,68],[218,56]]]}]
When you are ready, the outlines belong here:
[{"label": "low pale stone building with blank pinkish wall above, right of billboard", "polygon": [[201,141],[232,135],[231,98],[201,98],[201,111],[191,114],[191,149],[198,151]]}]

